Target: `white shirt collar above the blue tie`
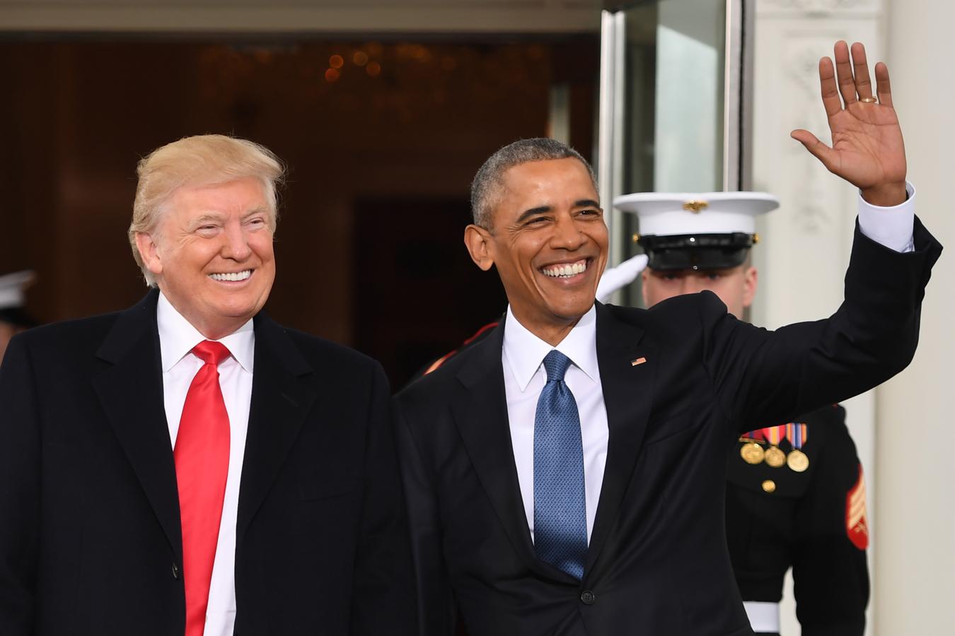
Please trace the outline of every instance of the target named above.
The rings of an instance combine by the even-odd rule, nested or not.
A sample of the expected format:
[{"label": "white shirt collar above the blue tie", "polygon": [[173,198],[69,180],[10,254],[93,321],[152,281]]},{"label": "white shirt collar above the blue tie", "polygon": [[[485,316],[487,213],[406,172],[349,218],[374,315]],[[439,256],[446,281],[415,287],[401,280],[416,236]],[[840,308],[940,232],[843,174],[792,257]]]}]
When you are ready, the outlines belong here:
[{"label": "white shirt collar above the blue tie", "polygon": [[577,321],[570,333],[556,347],[552,347],[514,317],[510,305],[504,321],[504,357],[511,366],[520,392],[527,388],[534,374],[541,368],[544,357],[557,349],[574,363],[590,380],[600,381],[597,366],[597,307],[592,305]]}]

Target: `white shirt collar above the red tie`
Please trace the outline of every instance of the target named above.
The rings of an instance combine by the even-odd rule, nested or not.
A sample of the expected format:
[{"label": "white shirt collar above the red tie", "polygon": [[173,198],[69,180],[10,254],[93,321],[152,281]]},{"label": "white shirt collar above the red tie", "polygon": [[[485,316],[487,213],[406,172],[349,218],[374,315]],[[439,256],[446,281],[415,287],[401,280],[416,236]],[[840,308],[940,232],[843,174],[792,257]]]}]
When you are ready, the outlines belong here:
[{"label": "white shirt collar above the red tie", "polygon": [[[192,324],[176,311],[165,294],[159,292],[159,304],[156,307],[156,323],[159,327],[159,351],[162,355],[162,372],[183,359],[192,348],[206,338]],[[255,330],[252,319],[228,336],[219,339],[242,368],[252,373],[255,359]]]}]

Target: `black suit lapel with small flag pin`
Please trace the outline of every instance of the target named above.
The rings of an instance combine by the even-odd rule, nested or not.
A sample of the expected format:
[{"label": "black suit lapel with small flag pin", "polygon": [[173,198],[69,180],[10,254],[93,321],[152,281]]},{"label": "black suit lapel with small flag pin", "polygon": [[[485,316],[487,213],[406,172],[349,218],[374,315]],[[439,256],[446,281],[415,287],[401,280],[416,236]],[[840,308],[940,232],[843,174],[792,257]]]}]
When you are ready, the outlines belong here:
[{"label": "black suit lapel with small flag pin", "polygon": [[643,341],[643,330],[616,318],[600,303],[597,303],[597,360],[609,440],[597,518],[587,550],[586,572],[596,563],[620,514],[620,505],[647,431],[657,363],[655,349]]}]

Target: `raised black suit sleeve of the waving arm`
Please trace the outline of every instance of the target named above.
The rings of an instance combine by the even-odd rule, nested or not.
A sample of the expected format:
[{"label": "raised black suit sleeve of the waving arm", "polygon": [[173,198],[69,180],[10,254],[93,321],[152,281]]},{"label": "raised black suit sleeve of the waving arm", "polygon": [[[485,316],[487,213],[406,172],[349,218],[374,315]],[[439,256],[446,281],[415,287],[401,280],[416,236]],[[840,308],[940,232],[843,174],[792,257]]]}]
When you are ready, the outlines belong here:
[{"label": "raised black suit sleeve of the waving arm", "polygon": [[915,354],[925,285],[942,246],[916,219],[915,251],[899,254],[856,227],[845,296],[830,318],[775,332],[743,323],[708,297],[705,364],[729,420],[748,431],[859,395]]}]

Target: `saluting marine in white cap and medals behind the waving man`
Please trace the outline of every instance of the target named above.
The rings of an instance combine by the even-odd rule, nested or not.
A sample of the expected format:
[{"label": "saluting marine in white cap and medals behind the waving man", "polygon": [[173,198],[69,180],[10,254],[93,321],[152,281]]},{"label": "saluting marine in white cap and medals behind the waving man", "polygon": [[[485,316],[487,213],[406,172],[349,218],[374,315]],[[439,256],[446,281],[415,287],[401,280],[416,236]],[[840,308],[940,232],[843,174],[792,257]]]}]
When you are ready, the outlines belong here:
[{"label": "saluting marine in white cap and medals behind the waving man", "polygon": [[[778,206],[763,193],[619,197],[640,217],[649,257],[647,305],[710,289],[742,318],[755,293],[754,216]],[[861,635],[869,599],[865,484],[845,410],[824,407],[767,422],[730,450],[726,528],[732,568],[753,631],[779,632],[783,579],[793,568],[804,636]]]}]

